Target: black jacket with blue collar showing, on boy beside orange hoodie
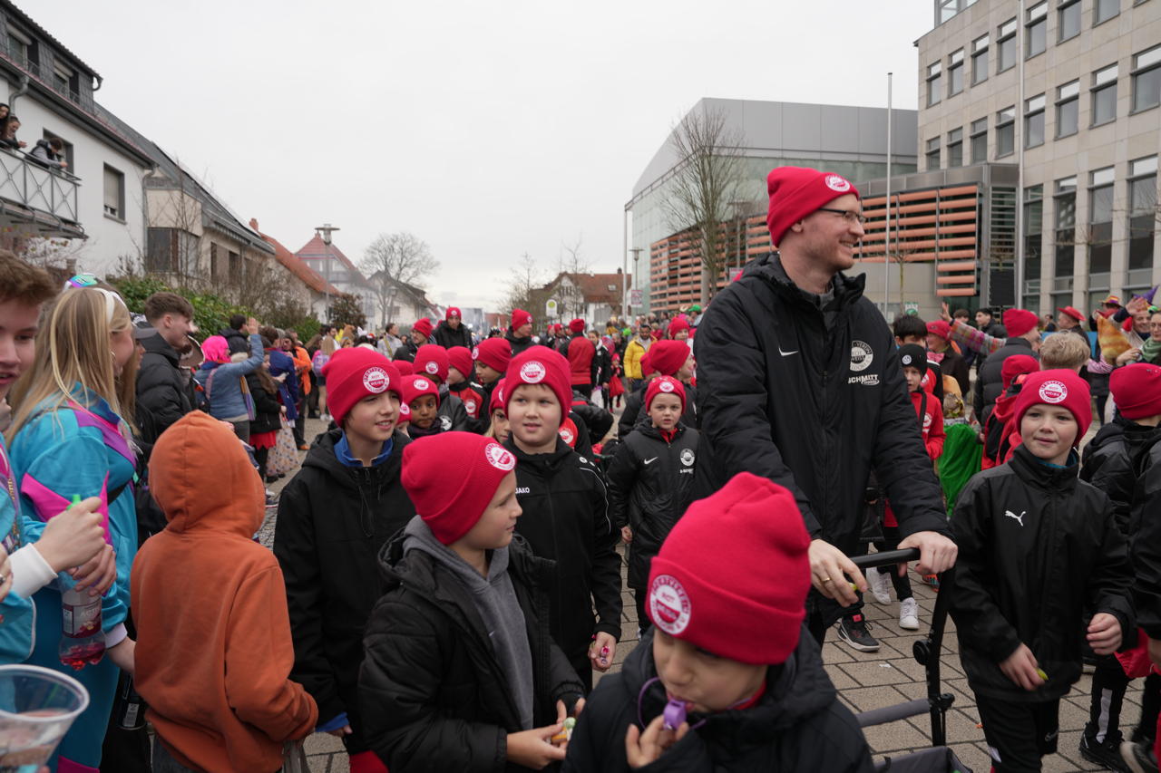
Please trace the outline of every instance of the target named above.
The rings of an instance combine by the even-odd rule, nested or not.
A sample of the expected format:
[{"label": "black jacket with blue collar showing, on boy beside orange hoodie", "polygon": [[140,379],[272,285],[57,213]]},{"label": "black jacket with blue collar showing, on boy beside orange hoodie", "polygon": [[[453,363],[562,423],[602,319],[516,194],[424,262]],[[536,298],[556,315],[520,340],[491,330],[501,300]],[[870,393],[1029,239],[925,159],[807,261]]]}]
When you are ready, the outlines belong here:
[{"label": "black jacket with blue collar showing, on boy beside orange hoodie", "polygon": [[383,594],[378,551],[416,514],[399,483],[408,439],[396,432],[377,467],[339,462],[342,432],[315,439],[302,469],[282,490],[274,555],[282,566],[294,636],[290,678],[318,703],[319,723],[346,711],[347,751],[366,751],[356,682],[363,629]]}]

